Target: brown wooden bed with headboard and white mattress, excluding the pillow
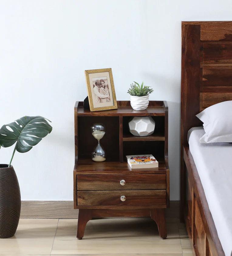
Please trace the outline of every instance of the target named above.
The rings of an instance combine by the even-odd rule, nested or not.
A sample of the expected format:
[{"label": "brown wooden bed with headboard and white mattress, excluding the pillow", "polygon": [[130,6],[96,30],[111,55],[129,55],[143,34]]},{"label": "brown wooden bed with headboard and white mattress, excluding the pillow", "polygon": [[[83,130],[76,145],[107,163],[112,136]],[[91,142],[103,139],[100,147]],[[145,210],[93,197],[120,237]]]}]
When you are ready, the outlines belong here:
[{"label": "brown wooden bed with headboard and white mattress, excluding the pillow", "polygon": [[[196,114],[232,100],[232,22],[182,22],[181,66],[180,218],[197,256],[227,256],[232,144],[200,144],[204,130]],[[214,166],[212,154],[220,159]]]}]

